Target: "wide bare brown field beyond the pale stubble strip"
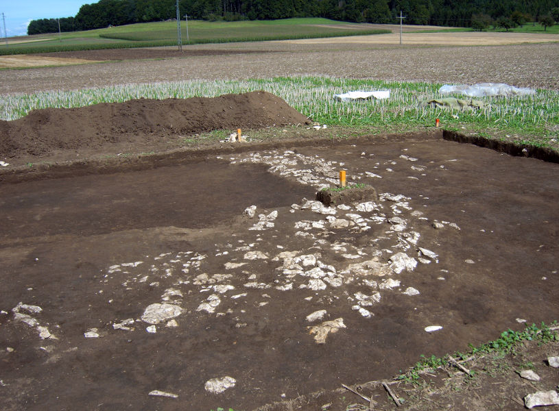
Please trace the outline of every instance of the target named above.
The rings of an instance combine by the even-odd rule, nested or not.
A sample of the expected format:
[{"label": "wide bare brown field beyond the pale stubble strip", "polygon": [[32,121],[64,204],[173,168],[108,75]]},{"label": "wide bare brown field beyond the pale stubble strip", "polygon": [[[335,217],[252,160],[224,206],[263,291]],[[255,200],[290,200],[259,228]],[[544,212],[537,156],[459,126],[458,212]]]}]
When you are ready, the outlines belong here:
[{"label": "wide bare brown field beyond the pale stubble strip", "polygon": [[[322,39],[313,44],[273,41],[193,45],[183,47],[184,58],[176,58],[176,48],[170,47],[166,49],[170,58],[141,61],[127,61],[130,51],[122,50],[121,62],[2,71],[0,93],[286,75],[330,75],[437,83],[503,82],[519,87],[559,90],[558,42],[480,46],[481,38],[485,38],[486,42],[492,38],[495,44],[499,44],[503,42],[504,36],[501,33],[484,33],[481,37],[476,35],[410,33],[405,34],[403,45],[355,42],[355,39],[341,43],[344,40],[340,38]],[[412,36],[433,36],[439,43],[408,44]],[[471,45],[449,45],[451,39],[459,36],[469,36]],[[370,38],[377,41],[382,39],[380,36]],[[510,38],[521,42],[519,36]],[[550,39],[548,36],[534,37],[529,34],[523,35],[523,38]],[[248,50],[250,53],[246,53]],[[216,55],[217,51],[219,55]],[[81,53],[79,57],[104,60],[102,52],[91,51],[91,55]],[[193,52],[196,52],[195,55],[190,54]],[[111,57],[115,60],[115,56]]]}]

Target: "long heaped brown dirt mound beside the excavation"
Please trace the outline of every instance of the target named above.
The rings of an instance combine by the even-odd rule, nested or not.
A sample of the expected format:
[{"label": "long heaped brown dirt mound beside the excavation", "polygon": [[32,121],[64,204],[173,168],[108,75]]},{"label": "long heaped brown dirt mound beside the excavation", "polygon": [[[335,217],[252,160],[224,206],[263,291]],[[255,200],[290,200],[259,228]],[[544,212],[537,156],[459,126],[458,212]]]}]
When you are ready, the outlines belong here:
[{"label": "long heaped brown dirt mound beside the excavation", "polygon": [[139,99],[82,108],[34,110],[0,121],[0,158],[104,147],[138,136],[190,135],[215,129],[258,129],[309,123],[283,99],[265,91],[214,98]]}]

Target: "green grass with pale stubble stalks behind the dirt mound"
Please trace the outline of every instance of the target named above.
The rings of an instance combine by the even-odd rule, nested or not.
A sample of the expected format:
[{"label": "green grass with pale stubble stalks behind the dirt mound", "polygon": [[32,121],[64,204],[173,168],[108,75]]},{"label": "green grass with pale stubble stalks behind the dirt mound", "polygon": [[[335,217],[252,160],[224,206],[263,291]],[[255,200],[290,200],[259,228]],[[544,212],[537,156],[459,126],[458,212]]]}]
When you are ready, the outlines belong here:
[{"label": "green grass with pale stubble stalks behind the dirt mound", "polygon": [[[188,81],[132,84],[0,96],[0,119],[12,120],[40,108],[71,108],[130,99],[216,97],[227,93],[265,90],[281,97],[313,121],[329,126],[350,126],[354,132],[409,132],[441,127],[477,133],[539,147],[559,149],[559,92],[537,90],[523,97],[484,97],[481,110],[453,112],[431,108],[427,101],[440,97],[441,84],[382,82],[337,77],[275,77],[243,81]],[[390,99],[352,103],[333,95],[349,90],[390,90]],[[461,96],[456,96],[461,97]],[[464,97],[461,97],[464,98]]]}]

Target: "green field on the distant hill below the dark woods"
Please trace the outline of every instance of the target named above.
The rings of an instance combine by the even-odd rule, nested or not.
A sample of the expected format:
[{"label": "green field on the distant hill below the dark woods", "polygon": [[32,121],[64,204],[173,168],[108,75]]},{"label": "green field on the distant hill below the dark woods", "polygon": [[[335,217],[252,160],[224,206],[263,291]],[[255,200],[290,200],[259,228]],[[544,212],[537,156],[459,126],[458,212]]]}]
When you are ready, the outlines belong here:
[{"label": "green field on the distant hill below the dark woods", "polygon": [[[327,27],[326,27],[327,26]],[[368,29],[357,23],[333,21],[327,18],[287,18],[273,21],[189,21],[181,22],[182,44],[211,42],[286,40],[390,33],[390,30]],[[86,49],[156,47],[177,44],[176,21],[138,23],[86,32],[40,34],[36,39],[10,47],[0,47],[2,54],[49,53]],[[48,40],[45,40],[48,39]]]}]

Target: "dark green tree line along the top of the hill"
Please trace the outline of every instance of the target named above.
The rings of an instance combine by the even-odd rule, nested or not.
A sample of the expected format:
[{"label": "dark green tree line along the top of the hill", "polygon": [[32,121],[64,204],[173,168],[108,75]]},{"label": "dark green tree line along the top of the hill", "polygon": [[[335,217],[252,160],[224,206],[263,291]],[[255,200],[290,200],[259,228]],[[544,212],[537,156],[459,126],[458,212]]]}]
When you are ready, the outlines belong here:
[{"label": "dark green tree line along the top of the hill", "polygon": [[[325,17],[357,23],[404,23],[484,28],[497,21],[540,21],[559,13],[559,0],[180,0],[181,18],[273,20]],[[516,17],[514,17],[516,16]],[[559,20],[559,16],[554,16]],[[27,34],[89,30],[176,18],[176,0],[100,0],[73,17],[33,20]],[[508,23],[507,23],[508,24]],[[503,26],[504,27],[504,26]]]}]

